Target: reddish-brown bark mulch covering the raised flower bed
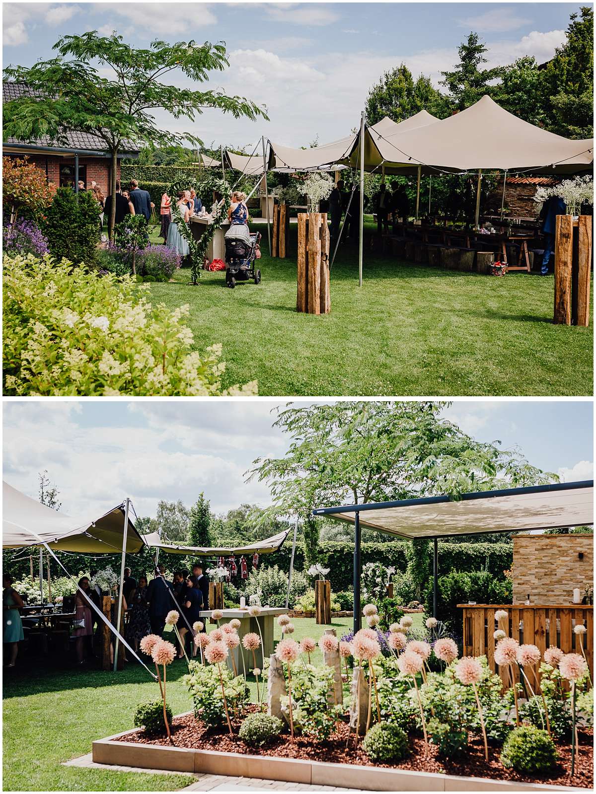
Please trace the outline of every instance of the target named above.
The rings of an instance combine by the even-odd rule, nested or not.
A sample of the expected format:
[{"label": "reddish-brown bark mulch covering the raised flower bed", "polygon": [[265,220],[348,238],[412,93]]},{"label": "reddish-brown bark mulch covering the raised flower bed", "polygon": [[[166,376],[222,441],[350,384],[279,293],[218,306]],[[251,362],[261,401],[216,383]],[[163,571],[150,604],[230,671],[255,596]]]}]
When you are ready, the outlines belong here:
[{"label": "reddish-brown bark mulch covering the raised flower bed", "polygon": [[[253,708],[249,707],[249,711]],[[543,775],[525,775],[505,769],[499,761],[500,747],[489,746],[489,760],[484,758],[482,738],[470,738],[470,744],[460,758],[439,758],[432,744],[424,745],[424,738],[410,736],[412,753],[400,764],[382,764],[373,762],[362,750],[362,739],[355,743],[354,733],[351,734],[349,746],[346,747],[348,727],[340,723],[339,729],[332,734],[327,742],[304,736],[296,736],[294,740],[289,734],[282,734],[270,745],[261,748],[247,746],[238,738],[239,719],[232,719],[234,736],[230,736],[227,726],[224,730],[208,728],[195,719],[193,715],[176,717],[172,723],[172,739],[176,747],[188,747],[192,750],[217,750],[220,753],[238,753],[242,755],[264,755],[281,758],[301,758],[307,761],[324,759],[335,764],[354,764],[359,766],[376,766],[384,769],[412,769],[416,772],[447,773],[461,777],[489,777],[504,781],[520,781],[524,783],[544,783],[582,788],[594,787],[594,749],[593,730],[584,730],[579,734],[579,754],[575,758],[575,775],[571,777],[571,747],[557,744],[559,761],[554,769]],[[119,742],[138,742],[170,746],[166,735],[148,735],[144,730],[136,730],[118,739]]]}]

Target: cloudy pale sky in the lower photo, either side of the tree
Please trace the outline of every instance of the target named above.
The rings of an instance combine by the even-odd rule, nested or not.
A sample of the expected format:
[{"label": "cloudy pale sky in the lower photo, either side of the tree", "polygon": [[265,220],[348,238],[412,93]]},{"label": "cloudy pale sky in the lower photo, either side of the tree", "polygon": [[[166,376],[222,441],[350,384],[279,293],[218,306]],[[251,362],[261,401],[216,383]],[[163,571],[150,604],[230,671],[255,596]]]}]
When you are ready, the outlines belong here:
[{"label": "cloudy pale sky in the lower photo, either side of the tree", "polygon": [[[217,512],[242,502],[266,505],[268,489],[246,484],[244,472],[255,458],[287,449],[288,438],[271,427],[271,410],[284,404],[8,401],[3,476],[37,497],[37,472],[47,468],[70,515],[112,507],[127,495],[138,515],[153,515],[159,499],[191,504],[200,491]],[[480,441],[517,445],[532,464],[564,480],[593,476],[591,402],[456,401],[446,416]]]}]

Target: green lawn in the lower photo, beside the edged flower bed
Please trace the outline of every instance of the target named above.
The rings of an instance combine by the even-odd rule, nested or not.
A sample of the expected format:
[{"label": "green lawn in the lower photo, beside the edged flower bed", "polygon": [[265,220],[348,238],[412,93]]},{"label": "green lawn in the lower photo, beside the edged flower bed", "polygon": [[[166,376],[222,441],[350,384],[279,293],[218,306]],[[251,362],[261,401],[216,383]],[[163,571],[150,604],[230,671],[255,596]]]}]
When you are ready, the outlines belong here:
[{"label": "green lawn in the lower photo, beside the edged flower bed", "polygon": [[[421,615],[413,615],[421,625]],[[314,619],[294,619],[293,638],[319,639],[323,626]],[[351,618],[334,619],[341,637]],[[210,626],[213,628],[215,626]],[[276,639],[281,630],[276,626]],[[312,661],[322,661],[317,649]],[[189,711],[192,702],[182,684],[184,660],[168,668],[168,703],[174,714]],[[255,684],[251,683],[253,699]],[[133,727],[137,703],[159,698],[157,684],[137,663],[120,673],[54,670],[43,660],[27,661],[3,680],[4,791],[172,791],[192,782],[188,775],[103,772],[63,762],[91,752],[91,742]]]}]

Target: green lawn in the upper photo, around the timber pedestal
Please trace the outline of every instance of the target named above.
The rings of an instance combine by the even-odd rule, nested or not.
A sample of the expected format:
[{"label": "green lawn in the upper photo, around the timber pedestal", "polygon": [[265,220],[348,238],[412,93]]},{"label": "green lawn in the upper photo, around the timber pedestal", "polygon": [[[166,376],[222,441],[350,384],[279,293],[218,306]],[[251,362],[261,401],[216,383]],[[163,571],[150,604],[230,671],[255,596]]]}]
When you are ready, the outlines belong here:
[{"label": "green lawn in the upper photo, around the timber pedestal", "polygon": [[[188,303],[195,346],[223,344],[224,386],[260,395],[589,395],[591,328],[554,326],[553,278],[444,271],[345,245],[331,271],[331,314],[296,313],[296,226],[262,282],[230,290],[223,273],[189,271],[151,285],[156,302]],[[370,228],[370,226],[369,226]],[[152,235],[157,241],[157,235]]]}]

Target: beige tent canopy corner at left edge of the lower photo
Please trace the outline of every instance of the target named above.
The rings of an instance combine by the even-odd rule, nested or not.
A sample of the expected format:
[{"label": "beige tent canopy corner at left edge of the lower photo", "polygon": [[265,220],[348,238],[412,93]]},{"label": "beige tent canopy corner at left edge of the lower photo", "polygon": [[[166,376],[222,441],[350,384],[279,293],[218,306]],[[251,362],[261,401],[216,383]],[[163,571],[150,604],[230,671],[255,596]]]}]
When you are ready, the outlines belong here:
[{"label": "beige tent canopy corner at left edge of the lower photo", "polygon": [[[93,518],[71,518],[2,482],[3,549],[45,542],[57,551],[118,554],[122,553],[123,534],[122,505]],[[143,545],[141,535],[129,519],[126,551],[140,551]]]}]

